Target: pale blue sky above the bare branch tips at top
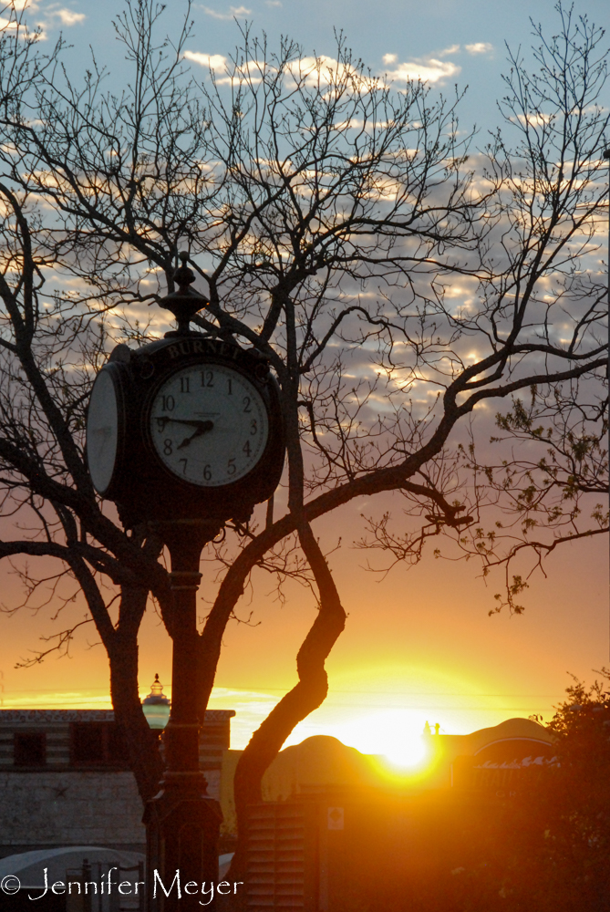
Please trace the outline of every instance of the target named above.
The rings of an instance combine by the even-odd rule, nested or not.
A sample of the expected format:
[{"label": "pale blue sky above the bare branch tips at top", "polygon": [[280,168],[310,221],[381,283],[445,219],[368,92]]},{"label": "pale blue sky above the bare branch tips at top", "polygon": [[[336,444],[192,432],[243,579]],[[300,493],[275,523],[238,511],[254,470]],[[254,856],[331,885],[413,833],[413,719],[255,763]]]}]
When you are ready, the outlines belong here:
[{"label": "pale blue sky above the bare branch tips at top", "polygon": [[[23,2],[23,0],[22,0]],[[98,3],[38,2],[31,16],[44,24],[47,40],[63,30],[73,45],[71,70],[76,75],[88,63],[88,45],[95,47],[98,62],[109,67],[111,79],[119,84],[123,53],[115,41],[111,20],[123,8],[122,0]],[[568,4],[566,3],[567,7]],[[251,23],[253,33],[268,36],[277,47],[280,36],[295,38],[305,55],[335,54],[335,30],[342,30],[349,47],[374,73],[395,74],[396,85],[404,85],[405,73],[430,78],[435,88],[446,94],[457,83],[468,86],[460,106],[461,124],[468,129],[481,127],[481,142],[486,130],[500,122],[495,106],[501,97],[501,73],[506,72],[506,44],[512,49],[532,44],[530,16],[553,34],[558,25],[554,0],[209,0],[193,3],[191,16],[194,36],[190,49],[196,54],[227,56],[240,39],[237,19]],[[163,27],[175,32],[186,11],[182,0],[172,0],[163,16]],[[586,14],[600,26],[610,25],[607,0],[577,2],[574,14]],[[198,77],[204,70],[193,68]]]}]

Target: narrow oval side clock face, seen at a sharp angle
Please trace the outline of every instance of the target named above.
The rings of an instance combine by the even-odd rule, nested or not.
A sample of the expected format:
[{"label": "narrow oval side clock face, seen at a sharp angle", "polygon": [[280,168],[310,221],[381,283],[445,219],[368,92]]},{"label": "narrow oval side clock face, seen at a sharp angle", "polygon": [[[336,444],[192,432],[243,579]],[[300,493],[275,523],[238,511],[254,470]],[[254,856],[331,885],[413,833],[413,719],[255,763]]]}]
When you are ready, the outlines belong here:
[{"label": "narrow oval side clock face, seen at a sharp angle", "polygon": [[101,370],[91,390],[87,416],[87,461],[91,481],[100,494],[112,478],[118,443],[117,394],[108,370]]}]

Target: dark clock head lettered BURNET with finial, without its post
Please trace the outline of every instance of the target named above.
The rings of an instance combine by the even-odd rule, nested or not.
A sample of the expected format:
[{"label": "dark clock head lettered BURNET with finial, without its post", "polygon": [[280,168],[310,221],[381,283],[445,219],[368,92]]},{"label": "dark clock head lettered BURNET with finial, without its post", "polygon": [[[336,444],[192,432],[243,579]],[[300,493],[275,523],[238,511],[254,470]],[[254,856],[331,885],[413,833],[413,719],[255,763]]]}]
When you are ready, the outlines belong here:
[{"label": "dark clock head lettered BURNET with finial, without its post", "polygon": [[[190,291],[181,288],[183,296]],[[177,297],[163,302],[174,312]],[[191,331],[184,316],[157,342],[119,345],[91,391],[87,458],[96,490],[119,505],[128,527],[245,521],[272,495],[284,465],[279,389],[267,359],[233,339]]]}]

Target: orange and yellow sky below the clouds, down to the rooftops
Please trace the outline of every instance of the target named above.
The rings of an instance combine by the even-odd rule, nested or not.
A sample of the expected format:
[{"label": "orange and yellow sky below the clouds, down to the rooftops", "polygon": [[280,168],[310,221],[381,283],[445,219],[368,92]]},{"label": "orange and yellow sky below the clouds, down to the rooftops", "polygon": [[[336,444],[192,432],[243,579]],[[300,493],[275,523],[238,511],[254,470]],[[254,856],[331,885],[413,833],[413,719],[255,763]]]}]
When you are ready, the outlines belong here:
[{"label": "orange and yellow sky below the clouds, down to the rooftops", "polygon": [[[332,523],[318,522],[317,534],[330,545],[343,530],[345,542],[360,508],[354,503]],[[606,548],[607,539],[600,539],[553,555],[549,578],[538,575],[532,581],[524,615],[488,617],[497,588],[486,588],[473,564],[429,556],[377,582],[361,569],[365,554],[344,546],[330,559],[349,616],[327,663],[330,693],[287,743],[330,734],[361,751],[399,759],[408,756],[426,720],[439,722],[441,732],[465,733],[532,712],[550,719],[570,683],[566,672],[590,680],[593,668],[610,664]],[[5,605],[15,604],[19,594],[9,569],[2,566]],[[312,596],[304,589],[290,588],[287,604],[280,606],[266,595],[270,588],[265,576],[252,606],[243,606],[243,617],[253,608],[258,626],[233,623],[225,637],[211,706],[237,711],[234,748],[243,747],[295,682],[295,654],[314,617]],[[70,610],[82,617],[82,607]],[[49,609],[37,617],[27,611],[0,616],[4,707],[109,706],[104,652],[88,648],[96,638],[92,628],[78,636],[71,658],[14,668],[36,648],[41,633],[61,623],[61,617],[55,625],[49,617]],[[153,612],[140,644],[144,695],[156,672],[170,682],[169,640]]]}]

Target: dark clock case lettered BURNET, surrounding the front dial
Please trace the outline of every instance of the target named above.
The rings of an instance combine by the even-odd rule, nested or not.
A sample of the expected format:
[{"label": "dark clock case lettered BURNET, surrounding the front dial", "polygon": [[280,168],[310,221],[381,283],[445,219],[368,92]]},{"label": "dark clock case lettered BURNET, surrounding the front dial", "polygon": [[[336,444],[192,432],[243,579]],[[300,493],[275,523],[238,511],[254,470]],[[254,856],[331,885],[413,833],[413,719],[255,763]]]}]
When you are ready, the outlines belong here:
[{"label": "dark clock case lettered BURNET, surrounding the front dial", "polygon": [[[242,373],[261,394],[269,422],[263,455],[237,482],[204,488],[182,481],[160,461],[150,438],[150,410],[160,386],[192,366],[223,365]],[[245,523],[256,503],[268,500],[284,468],[284,424],[277,381],[256,349],[232,340],[181,333],[138,349],[119,345],[103,368],[112,379],[119,416],[117,457],[108,487],[126,528],[142,522],[210,519]]]}]

